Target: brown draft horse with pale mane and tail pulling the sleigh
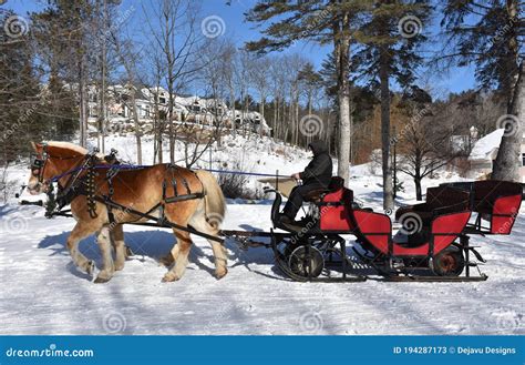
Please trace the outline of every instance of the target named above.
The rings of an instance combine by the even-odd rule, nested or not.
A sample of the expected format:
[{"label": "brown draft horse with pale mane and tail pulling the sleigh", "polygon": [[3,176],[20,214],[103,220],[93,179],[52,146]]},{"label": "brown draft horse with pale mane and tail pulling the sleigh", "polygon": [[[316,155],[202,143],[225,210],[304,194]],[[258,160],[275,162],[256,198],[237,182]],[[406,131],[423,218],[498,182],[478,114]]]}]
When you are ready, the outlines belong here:
[{"label": "brown draft horse with pale mane and tail pulling the sleigh", "polygon": [[[32,168],[28,183],[28,191],[31,194],[48,192],[51,179],[78,169],[85,161],[87,154],[87,150],[68,142],[49,142],[45,144],[45,153],[43,144],[32,143],[32,145],[37,152],[37,160],[41,161],[41,166],[37,171]],[[110,186],[105,180],[105,172],[106,170],[94,178],[97,194],[107,194],[109,192]],[[70,179],[70,174],[60,178],[58,180],[60,186],[64,187],[68,179]],[[178,225],[191,225],[200,232],[218,236],[226,204],[220,186],[214,175],[207,171],[194,172],[181,166],[169,169],[167,164],[134,170],[123,169],[112,180],[114,189],[112,200],[135,211],[147,212],[155,204],[162,202],[163,182],[172,181],[172,179],[178,181],[178,186],[184,186],[183,179],[186,180],[189,190],[192,192],[203,192],[204,197],[165,204],[165,217]],[[173,196],[174,190],[171,183],[166,184],[165,196]],[[126,211],[112,211],[115,221],[110,223],[105,204],[96,202],[96,216],[92,217],[87,210],[87,197],[85,195],[78,195],[71,202],[71,212],[76,220],[76,225],[68,237],[68,250],[73,262],[91,275],[94,263],[79,251],[79,242],[93,233],[96,234],[103,263],[95,283],[107,282],[115,271],[124,267],[126,247],[122,225],[144,221]],[[152,215],[155,214],[159,216],[159,212],[152,213]],[[166,273],[163,278],[164,282],[177,281],[184,275],[193,243],[189,233],[176,229],[173,231],[177,243],[173,246],[171,254],[164,258],[164,263],[171,264],[175,261],[175,265]],[[208,240],[208,242],[212,244],[215,255],[215,273],[217,278],[220,278],[228,272],[226,252],[220,243],[212,240]],[[114,262],[112,244],[115,249]]]}]

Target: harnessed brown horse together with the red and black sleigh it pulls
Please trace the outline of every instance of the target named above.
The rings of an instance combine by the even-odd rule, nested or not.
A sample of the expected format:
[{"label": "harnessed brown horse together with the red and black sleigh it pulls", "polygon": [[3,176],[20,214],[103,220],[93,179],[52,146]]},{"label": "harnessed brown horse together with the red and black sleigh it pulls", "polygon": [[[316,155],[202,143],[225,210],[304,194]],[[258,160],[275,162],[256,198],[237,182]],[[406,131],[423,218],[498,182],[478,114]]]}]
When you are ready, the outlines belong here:
[{"label": "harnessed brown horse together with the red and black sleigh it pulls", "polygon": [[[173,229],[177,243],[161,261],[168,266],[175,264],[164,281],[184,274],[191,234],[212,244],[218,278],[227,273],[225,240],[233,239],[245,249],[271,249],[278,267],[296,281],[359,282],[371,274],[385,281],[484,281],[487,276],[480,272],[478,262],[485,261],[470,245],[470,237],[511,234],[523,200],[518,183],[442,184],[428,190],[424,203],[395,212],[402,226],[393,234],[389,215],[357,204],[343,180],[333,178],[328,189],[310,193],[309,210],[300,224],[279,221],[281,195],[268,190],[275,193],[274,229],[220,230],[226,204],[207,171],[171,164],[120,164],[114,153],[101,158],[61,142],[35,144],[34,150],[28,190],[35,194],[49,192],[53,183],[59,185],[58,207],[49,215],[69,215],[63,209],[71,206],[76,225],[68,249],[75,264],[90,274],[94,264],[78,245],[96,234],[103,258],[97,283],[109,281],[124,266],[127,252],[123,224]],[[356,256],[348,255],[344,235],[356,236]],[[477,275],[471,274],[473,267]]]}]

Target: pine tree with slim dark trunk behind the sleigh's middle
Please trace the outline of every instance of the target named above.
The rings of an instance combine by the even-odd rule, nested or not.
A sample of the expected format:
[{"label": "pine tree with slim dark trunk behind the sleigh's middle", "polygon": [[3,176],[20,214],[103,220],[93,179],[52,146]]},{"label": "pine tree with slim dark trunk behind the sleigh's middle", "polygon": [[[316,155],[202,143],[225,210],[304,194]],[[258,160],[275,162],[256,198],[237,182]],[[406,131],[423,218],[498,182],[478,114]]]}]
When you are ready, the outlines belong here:
[{"label": "pine tree with slim dark trunk behind the sleigh's middle", "polygon": [[397,81],[408,88],[416,78],[422,58],[418,45],[426,40],[421,33],[430,6],[428,1],[374,2],[367,20],[356,33],[359,42],[352,58],[356,78],[364,75],[381,101],[381,160],[383,175],[383,209],[393,209],[390,131],[390,83]]}]

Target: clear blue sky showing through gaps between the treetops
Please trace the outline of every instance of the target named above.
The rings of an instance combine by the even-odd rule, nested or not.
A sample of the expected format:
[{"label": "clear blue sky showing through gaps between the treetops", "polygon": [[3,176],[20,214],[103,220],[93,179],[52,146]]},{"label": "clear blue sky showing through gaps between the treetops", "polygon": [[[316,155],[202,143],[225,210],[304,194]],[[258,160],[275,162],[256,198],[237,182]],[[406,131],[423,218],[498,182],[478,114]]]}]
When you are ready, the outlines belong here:
[{"label": "clear blue sky showing through gaps between the treetops", "polygon": [[[239,47],[246,41],[256,40],[260,37],[259,29],[253,24],[244,21],[244,13],[247,12],[256,0],[230,0],[230,4],[227,4],[226,0],[203,0],[202,1],[202,16],[203,19],[208,16],[218,16],[224,20],[226,26],[225,34],[222,37],[228,37]],[[38,11],[45,4],[45,0],[7,0],[2,8],[12,9],[20,16],[24,16],[31,11]],[[141,0],[124,0],[121,4],[121,11],[125,12],[126,9],[134,8],[132,18],[128,20],[132,24],[141,29],[144,20],[142,19],[142,1]],[[436,23],[440,19],[434,20],[434,24],[429,24],[426,31],[431,34],[436,34]],[[433,50],[440,47],[440,42],[436,39],[433,44],[430,45]],[[297,43],[290,49],[284,52],[288,53],[302,53],[307,57],[316,67],[320,67],[322,60],[327,57],[330,51],[329,48],[321,48],[311,42]],[[420,74],[425,75],[425,80],[421,81],[431,84],[433,89],[442,92],[453,91],[460,92],[463,90],[472,89],[475,87],[474,70],[472,68],[455,68],[447,74],[439,74],[432,72],[433,70],[422,70]],[[428,77],[426,77],[428,75]],[[425,87],[420,84],[420,87]]]}]

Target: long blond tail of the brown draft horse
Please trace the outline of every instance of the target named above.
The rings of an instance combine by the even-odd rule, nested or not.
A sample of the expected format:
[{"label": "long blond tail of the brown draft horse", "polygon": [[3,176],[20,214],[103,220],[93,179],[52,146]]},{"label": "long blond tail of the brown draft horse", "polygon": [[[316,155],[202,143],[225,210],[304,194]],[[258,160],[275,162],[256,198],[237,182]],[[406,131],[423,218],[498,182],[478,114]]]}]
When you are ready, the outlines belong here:
[{"label": "long blond tail of the brown draft horse", "polygon": [[197,170],[195,173],[204,187],[206,222],[208,222],[208,224],[214,229],[218,230],[226,213],[226,201],[224,199],[223,190],[210,172],[206,170]]}]

